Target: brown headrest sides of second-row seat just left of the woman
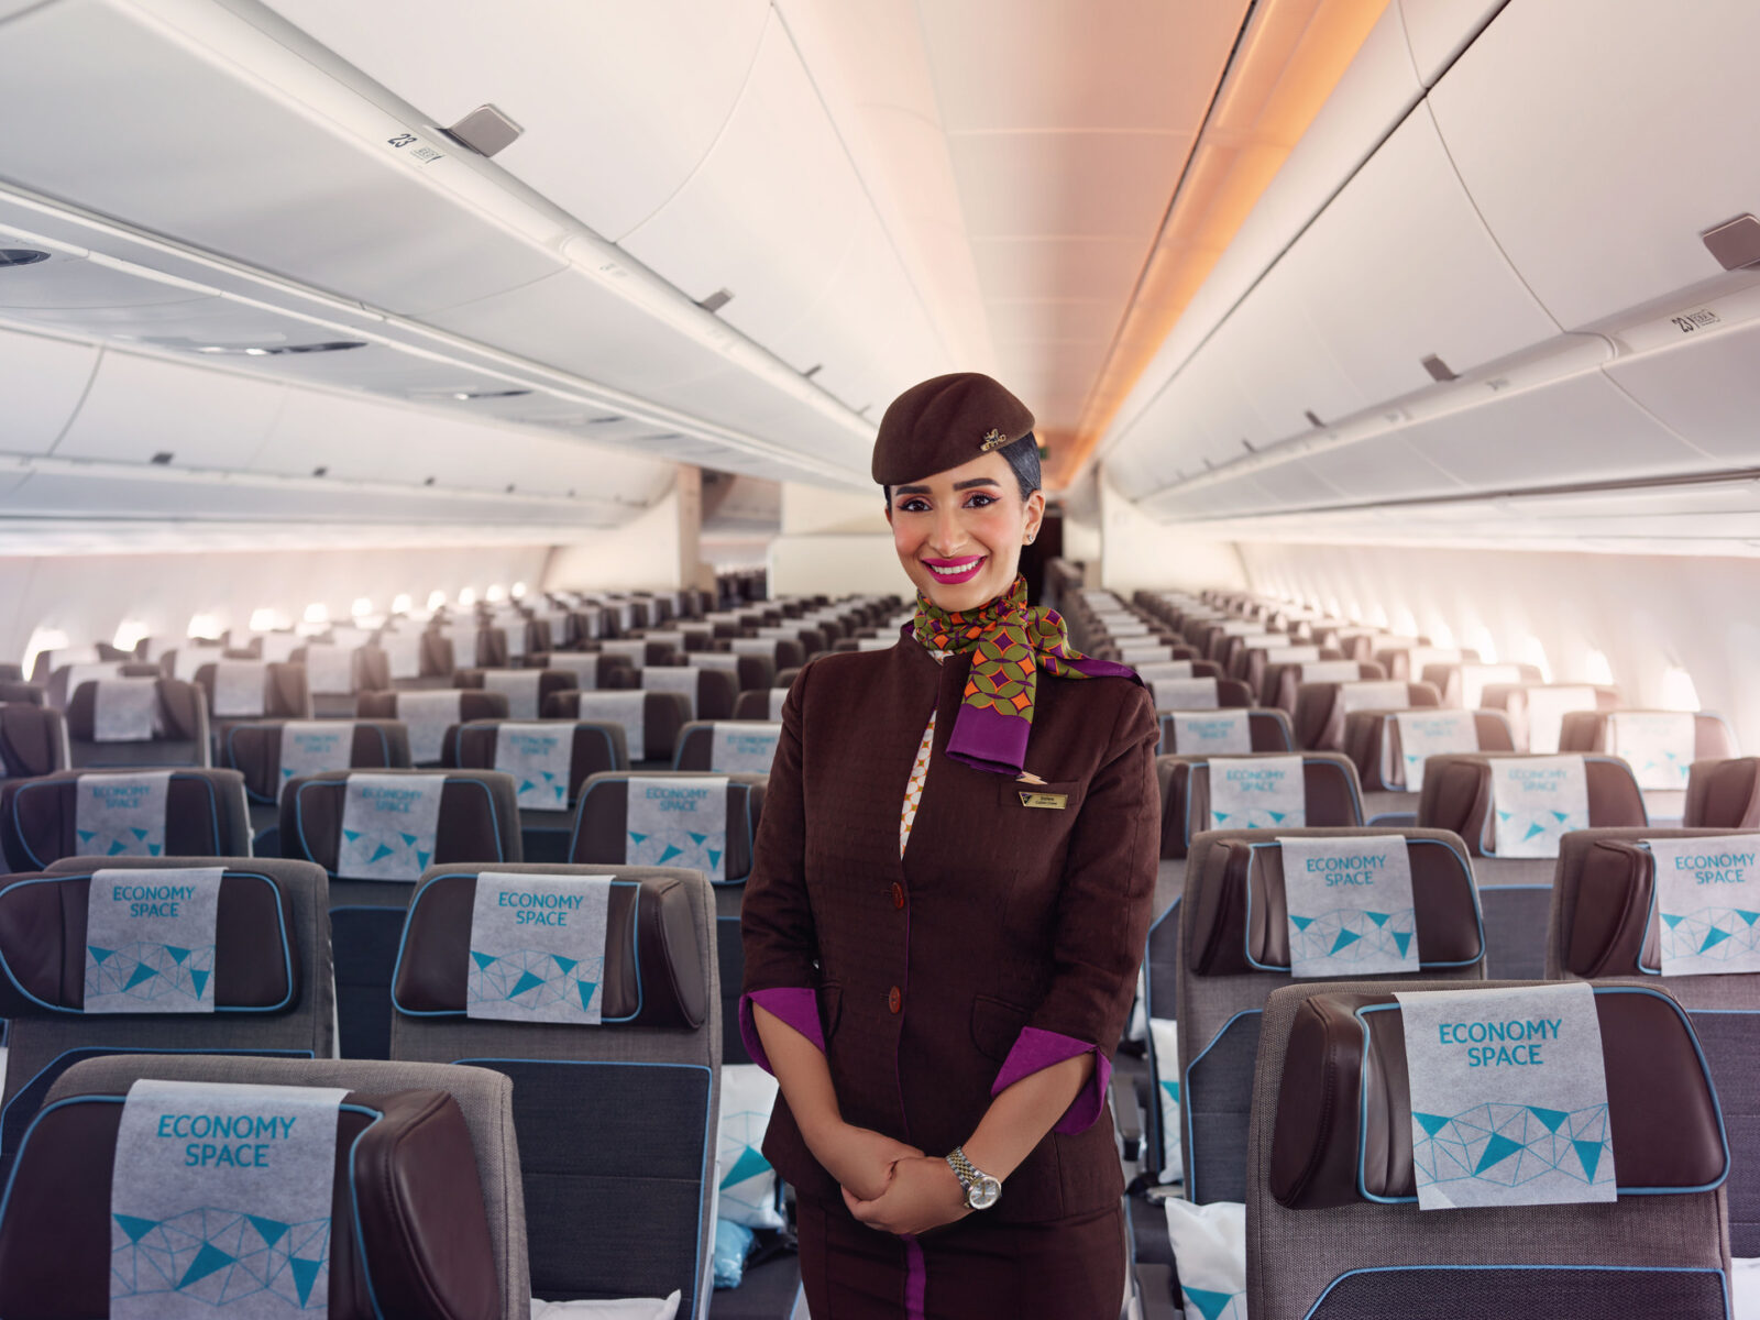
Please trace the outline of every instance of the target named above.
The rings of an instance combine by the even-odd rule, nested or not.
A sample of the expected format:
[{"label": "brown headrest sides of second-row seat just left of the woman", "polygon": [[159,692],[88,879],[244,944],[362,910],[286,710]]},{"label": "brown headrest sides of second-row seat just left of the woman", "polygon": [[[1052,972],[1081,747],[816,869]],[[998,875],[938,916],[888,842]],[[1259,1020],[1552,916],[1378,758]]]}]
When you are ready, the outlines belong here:
[{"label": "brown headrest sides of second-row seat just left of the woman", "polygon": [[[415,891],[391,987],[398,1012],[465,1016],[479,869],[493,868],[436,875]],[[709,989],[699,949],[697,905],[685,876],[637,871],[612,878],[600,982],[602,1024],[702,1026]]]}]

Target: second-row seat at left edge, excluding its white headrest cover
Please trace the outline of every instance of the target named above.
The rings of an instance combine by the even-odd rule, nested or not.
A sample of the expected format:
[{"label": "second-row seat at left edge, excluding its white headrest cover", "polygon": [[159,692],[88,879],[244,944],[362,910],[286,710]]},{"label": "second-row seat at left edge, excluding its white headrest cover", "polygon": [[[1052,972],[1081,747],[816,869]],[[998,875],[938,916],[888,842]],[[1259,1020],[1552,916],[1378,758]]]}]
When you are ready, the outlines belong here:
[{"label": "second-row seat at left edge, excluding its white headrest cover", "polygon": [[[225,866],[206,1014],[84,1014],[86,896],[93,871]],[[327,885],[308,862],[250,857],[77,857],[0,889],[0,1014],[9,1019],[0,1151],[11,1153],[49,1086],[109,1052],[257,1052],[329,1058],[334,991]],[[116,956],[123,956],[125,950]]]}]

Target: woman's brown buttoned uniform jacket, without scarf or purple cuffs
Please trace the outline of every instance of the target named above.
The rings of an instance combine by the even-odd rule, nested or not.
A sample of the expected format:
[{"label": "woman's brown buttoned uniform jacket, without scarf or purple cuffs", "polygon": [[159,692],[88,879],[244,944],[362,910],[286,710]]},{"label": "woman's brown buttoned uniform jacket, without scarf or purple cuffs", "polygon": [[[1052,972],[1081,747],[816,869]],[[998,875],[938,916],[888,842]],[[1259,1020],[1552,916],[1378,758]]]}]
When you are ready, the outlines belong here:
[{"label": "woman's brown buttoned uniform jacket, without scarf or purple cuffs", "polygon": [[[843,1118],[931,1155],[964,1142],[1024,1026],[1111,1056],[1149,928],[1160,840],[1149,693],[1040,674],[1023,785],[945,757],[970,656],[905,639],[796,678],[743,906],[744,993],[813,987]],[[935,755],[910,847],[898,831],[929,711]],[[1063,810],[1021,792],[1056,794]],[[778,1098],[764,1155],[841,1213]],[[1111,1111],[1049,1133],[998,1220],[1047,1221],[1123,1193]]]}]

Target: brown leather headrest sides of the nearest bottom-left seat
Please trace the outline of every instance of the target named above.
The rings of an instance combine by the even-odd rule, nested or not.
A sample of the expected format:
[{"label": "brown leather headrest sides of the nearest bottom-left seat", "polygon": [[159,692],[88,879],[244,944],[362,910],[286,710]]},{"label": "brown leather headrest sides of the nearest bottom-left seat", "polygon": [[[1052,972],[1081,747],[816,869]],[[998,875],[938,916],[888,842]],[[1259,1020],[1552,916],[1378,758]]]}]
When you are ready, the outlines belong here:
[{"label": "brown leather headrest sides of the nearest bottom-left seat", "polygon": [[[0,1220],[0,1313],[33,1320],[109,1313],[111,1176],[123,1098],[70,1096],[42,1111],[25,1135]],[[345,1095],[334,1186],[331,1320],[500,1320],[482,1183],[451,1095]]]}]

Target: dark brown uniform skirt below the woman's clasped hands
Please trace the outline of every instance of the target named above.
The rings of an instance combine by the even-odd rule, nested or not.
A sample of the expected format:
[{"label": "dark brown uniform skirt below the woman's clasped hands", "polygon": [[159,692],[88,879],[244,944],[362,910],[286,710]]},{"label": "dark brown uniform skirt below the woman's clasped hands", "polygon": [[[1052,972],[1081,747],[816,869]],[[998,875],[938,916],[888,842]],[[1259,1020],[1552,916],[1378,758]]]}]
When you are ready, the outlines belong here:
[{"label": "dark brown uniform skirt below the woman's clasped hands", "polygon": [[982,1213],[912,1241],[838,1206],[799,1206],[801,1281],[813,1320],[1118,1320],[1119,1206],[1049,1223]]}]

